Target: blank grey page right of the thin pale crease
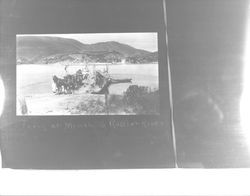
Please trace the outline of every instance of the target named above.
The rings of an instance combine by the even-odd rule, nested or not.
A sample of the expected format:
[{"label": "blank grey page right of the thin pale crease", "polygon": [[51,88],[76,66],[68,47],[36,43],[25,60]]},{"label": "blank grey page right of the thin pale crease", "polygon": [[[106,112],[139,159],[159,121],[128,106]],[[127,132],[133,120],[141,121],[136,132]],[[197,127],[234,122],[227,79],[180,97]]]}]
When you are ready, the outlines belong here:
[{"label": "blank grey page right of the thin pale crease", "polygon": [[167,1],[180,167],[250,166],[239,113],[248,4]]}]

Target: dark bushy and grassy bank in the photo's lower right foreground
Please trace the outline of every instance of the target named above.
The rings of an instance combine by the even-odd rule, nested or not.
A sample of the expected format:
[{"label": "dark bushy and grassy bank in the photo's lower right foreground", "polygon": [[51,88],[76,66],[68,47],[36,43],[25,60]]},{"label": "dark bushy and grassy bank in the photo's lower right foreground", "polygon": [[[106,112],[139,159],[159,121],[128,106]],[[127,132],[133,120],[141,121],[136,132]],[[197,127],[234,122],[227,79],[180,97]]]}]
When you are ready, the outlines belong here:
[{"label": "dark bushy and grassy bank in the photo's lower right foreground", "polygon": [[[104,96],[104,95],[103,95]],[[159,90],[130,85],[123,95],[108,96],[107,106],[103,97],[80,102],[72,114],[159,114]]]}]

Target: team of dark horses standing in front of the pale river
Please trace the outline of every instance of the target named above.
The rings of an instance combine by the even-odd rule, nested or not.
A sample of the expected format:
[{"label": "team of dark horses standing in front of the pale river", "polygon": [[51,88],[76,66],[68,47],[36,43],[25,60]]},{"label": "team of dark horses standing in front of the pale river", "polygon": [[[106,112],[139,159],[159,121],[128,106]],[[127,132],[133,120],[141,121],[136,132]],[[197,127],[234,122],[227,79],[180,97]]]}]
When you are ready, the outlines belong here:
[{"label": "team of dark horses standing in front of the pale river", "polygon": [[77,90],[84,85],[83,81],[87,77],[88,74],[83,75],[81,69],[79,69],[75,74],[67,74],[63,78],[59,78],[54,75],[52,78],[55,85],[53,92],[56,94],[72,94],[74,90]]}]

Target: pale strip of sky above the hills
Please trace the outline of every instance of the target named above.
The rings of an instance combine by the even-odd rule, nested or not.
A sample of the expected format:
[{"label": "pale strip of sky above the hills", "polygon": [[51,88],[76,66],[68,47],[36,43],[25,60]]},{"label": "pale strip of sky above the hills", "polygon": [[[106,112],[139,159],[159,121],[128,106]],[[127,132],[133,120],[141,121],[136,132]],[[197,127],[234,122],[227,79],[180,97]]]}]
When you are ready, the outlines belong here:
[{"label": "pale strip of sky above the hills", "polygon": [[157,33],[86,33],[86,34],[26,34],[19,36],[51,36],[78,40],[84,44],[117,41],[137,49],[158,51]]}]

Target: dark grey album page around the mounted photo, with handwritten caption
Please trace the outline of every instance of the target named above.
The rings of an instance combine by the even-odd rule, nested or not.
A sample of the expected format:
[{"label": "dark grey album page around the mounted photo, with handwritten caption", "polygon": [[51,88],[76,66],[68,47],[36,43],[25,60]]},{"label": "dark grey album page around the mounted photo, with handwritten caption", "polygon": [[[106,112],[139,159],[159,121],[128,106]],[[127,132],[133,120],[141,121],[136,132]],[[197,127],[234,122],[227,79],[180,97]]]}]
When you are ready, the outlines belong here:
[{"label": "dark grey album page around the mounted photo, with handwritten caption", "polygon": [[[2,0],[1,29],[1,72],[7,88],[1,117],[3,167],[174,166],[162,1]],[[105,32],[158,33],[160,116],[16,117],[16,34]]]}]

